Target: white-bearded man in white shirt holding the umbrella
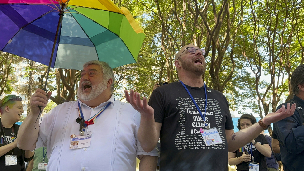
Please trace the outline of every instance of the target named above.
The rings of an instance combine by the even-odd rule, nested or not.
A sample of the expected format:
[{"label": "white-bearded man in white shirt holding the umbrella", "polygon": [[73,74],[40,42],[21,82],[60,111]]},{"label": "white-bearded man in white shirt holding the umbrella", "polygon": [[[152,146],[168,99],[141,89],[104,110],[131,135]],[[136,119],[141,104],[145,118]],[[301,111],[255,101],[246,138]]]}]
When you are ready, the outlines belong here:
[{"label": "white-bearded man in white shirt holding the umbrella", "polygon": [[[18,147],[34,150],[47,147],[50,171],[156,170],[157,149],[144,152],[137,139],[140,113],[114,98],[112,68],[101,61],[88,61],[81,71],[78,97],[44,114],[40,128],[35,121],[38,106],[47,105],[48,94],[37,89],[30,99],[31,112],[19,129]],[[99,115],[98,115],[99,114]],[[82,125],[82,126],[81,126]],[[39,127],[36,123],[36,128]],[[77,148],[70,148],[78,141]]]}]

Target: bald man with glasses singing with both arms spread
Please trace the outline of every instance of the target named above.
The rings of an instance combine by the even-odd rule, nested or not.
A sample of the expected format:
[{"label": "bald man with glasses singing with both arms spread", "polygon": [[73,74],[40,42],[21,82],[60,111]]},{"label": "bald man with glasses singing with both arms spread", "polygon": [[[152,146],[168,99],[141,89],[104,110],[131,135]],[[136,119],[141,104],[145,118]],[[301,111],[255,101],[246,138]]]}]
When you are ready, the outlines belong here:
[{"label": "bald man with glasses singing with both arms spread", "polygon": [[295,106],[288,105],[234,133],[225,96],[202,79],[204,55],[205,50],[197,46],[182,47],[174,61],[180,80],[156,88],[149,104],[137,92],[125,91],[127,101],[141,113],[138,138],[143,149],[150,152],[161,138],[161,171],[228,170],[228,151],[235,152],[250,141],[257,143],[254,139],[262,130],[295,111]]}]

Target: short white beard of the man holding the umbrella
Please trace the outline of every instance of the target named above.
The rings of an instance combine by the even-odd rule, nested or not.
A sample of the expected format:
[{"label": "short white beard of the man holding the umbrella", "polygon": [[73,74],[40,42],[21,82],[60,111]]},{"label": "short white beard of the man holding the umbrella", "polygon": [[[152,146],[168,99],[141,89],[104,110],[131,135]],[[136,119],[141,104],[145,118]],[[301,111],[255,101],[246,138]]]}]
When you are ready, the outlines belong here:
[{"label": "short white beard of the man holding the umbrella", "polygon": [[104,80],[102,82],[100,82],[97,85],[93,85],[91,82],[88,81],[83,81],[82,84],[84,83],[89,83],[92,87],[91,92],[88,94],[83,93],[83,86],[79,85],[78,90],[77,90],[77,96],[79,99],[83,100],[83,101],[91,101],[96,99],[103,91],[105,91],[105,89],[107,89],[107,80]]}]

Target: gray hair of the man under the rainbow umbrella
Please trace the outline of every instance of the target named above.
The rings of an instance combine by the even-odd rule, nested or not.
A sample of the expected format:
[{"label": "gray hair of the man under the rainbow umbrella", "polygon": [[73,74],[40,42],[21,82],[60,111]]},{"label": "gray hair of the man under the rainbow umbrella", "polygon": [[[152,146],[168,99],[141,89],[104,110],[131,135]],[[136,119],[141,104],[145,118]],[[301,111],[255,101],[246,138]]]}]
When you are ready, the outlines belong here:
[{"label": "gray hair of the man under the rainbow umbrella", "polygon": [[110,86],[110,90],[113,93],[115,78],[114,78],[113,70],[110,67],[110,65],[108,63],[104,62],[104,61],[93,60],[93,61],[88,61],[88,62],[84,63],[83,68],[87,67],[88,65],[92,65],[92,64],[100,66],[100,68],[102,69],[102,72],[103,72],[103,79],[104,80],[109,80],[110,78],[113,80],[113,82]]}]

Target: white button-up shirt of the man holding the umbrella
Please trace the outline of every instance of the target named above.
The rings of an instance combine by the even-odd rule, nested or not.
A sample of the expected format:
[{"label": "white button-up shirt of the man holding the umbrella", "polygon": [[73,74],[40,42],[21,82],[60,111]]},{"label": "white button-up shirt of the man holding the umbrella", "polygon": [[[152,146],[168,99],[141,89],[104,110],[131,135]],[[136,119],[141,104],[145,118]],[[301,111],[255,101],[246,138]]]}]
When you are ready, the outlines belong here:
[{"label": "white button-up shirt of the man holding the umbrella", "polygon": [[156,148],[147,153],[140,146],[140,113],[128,103],[114,101],[113,94],[94,109],[79,101],[85,120],[111,105],[86,127],[86,132],[92,131],[90,147],[69,149],[70,136],[79,135],[78,101],[62,103],[42,117],[36,149],[47,147],[47,171],[135,171],[136,155],[158,155]]}]

